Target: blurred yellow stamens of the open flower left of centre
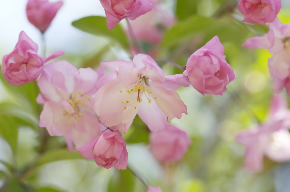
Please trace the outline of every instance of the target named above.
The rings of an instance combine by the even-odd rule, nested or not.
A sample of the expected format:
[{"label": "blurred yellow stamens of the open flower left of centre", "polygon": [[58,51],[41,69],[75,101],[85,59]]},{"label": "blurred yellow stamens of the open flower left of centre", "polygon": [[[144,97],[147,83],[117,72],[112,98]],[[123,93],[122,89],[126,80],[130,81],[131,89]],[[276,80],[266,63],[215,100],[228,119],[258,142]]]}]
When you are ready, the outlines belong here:
[{"label": "blurred yellow stamens of the open flower left of centre", "polygon": [[[87,92],[84,91],[83,93],[81,91],[78,91],[77,94],[73,93],[70,95],[69,99],[66,99],[70,106],[73,108],[73,111],[71,108],[65,108],[64,116],[68,118],[68,123],[71,125],[75,125],[73,121],[77,121],[79,117],[83,116],[83,113],[81,112],[82,106],[85,106],[85,101],[89,101],[90,98],[88,96],[84,96]],[[87,111],[89,111],[89,108],[86,108]]]}]

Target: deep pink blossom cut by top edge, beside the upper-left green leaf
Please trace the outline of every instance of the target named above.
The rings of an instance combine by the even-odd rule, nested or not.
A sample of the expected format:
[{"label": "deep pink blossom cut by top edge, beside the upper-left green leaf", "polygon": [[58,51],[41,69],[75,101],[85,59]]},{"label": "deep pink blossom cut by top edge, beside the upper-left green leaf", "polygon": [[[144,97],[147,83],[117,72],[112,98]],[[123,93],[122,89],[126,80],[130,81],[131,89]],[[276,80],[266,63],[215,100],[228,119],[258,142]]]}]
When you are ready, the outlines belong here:
[{"label": "deep pink blossom cut by top edge, beside the upper-left green leaf", "polygon": [[108,29],[113,29],[122,19],[134,20],[152,9],[149,0],[100,0],[105,9]]}]

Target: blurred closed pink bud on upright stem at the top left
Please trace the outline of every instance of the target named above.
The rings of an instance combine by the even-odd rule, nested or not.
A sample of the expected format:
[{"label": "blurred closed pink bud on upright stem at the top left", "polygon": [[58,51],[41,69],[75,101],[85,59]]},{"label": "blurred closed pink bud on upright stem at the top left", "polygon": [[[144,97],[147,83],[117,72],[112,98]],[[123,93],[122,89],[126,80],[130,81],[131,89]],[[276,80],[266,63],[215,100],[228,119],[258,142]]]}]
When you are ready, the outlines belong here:
[{"label": "blurred closed pink bud on upright stem at the top left", "polygon": [[41,33],[44,33],[62,4],[62,1],[49,3],[48,0],[28,0],[27,18]]}]

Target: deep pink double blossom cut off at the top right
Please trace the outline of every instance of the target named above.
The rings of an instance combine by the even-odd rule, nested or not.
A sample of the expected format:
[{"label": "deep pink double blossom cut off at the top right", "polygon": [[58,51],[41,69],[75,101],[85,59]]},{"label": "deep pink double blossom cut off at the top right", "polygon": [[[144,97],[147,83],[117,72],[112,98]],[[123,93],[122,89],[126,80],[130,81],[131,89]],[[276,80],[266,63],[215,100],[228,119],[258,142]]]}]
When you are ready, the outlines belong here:
[{"label": "deep pink double blossom cut off at the top right", "polygon": [[242,21],[265,25],[274,21],[281,9],[281,0],[240,0],[238,7],[245,15]]}]

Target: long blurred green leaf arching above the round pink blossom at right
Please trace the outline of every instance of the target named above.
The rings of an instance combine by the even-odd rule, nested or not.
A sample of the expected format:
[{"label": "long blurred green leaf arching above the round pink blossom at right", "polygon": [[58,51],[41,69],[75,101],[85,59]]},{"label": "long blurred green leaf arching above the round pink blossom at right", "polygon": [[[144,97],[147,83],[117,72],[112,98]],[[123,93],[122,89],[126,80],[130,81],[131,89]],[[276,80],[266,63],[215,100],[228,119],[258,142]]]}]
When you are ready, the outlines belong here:
[{"label": "long blurred green leaf arching above the round pink blossom at right", "polygon": [[200,15],[177,22],[169,29],[162,40],[160,48],[170,49],[189,43],[195,37],[202,40],[201,45],[218,36],[222,43],[235,42],[242,45],[250,32],[236,23],[224,23]]}]

